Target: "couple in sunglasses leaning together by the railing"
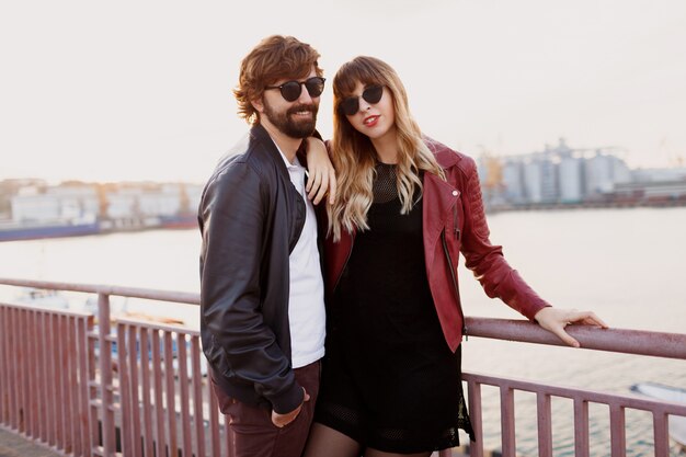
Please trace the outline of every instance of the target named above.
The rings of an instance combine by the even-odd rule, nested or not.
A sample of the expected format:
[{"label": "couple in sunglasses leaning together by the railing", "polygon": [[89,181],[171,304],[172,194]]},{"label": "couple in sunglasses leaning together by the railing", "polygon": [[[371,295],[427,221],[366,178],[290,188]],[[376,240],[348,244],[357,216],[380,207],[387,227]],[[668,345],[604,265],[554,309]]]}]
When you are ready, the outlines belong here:
[{"label": "couple in sunglasses leaning together by the railing", "polygon": [[428,456],[458,429],[473,437],[460,252],[490,297],[568,344],[567,324],[605,324],[550,307],[507,264],[473,160],[422,136],[379,59],[333,78],[334,179],[313,137],[318,58],[271,36],[243,59],[235,94],[252,127],[201,202],[203,349],[231,455]]}]

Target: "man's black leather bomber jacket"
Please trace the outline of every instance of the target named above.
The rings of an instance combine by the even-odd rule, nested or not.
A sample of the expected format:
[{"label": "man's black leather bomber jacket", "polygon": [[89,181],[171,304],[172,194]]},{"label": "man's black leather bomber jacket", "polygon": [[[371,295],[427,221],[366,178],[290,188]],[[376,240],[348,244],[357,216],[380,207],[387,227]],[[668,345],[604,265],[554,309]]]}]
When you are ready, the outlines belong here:
[{"label": "man's black leather bomber jacket", "polygon": [[290,364],[289,264],[305,201],[261,125],[219,162],[201,199],[201,334],[215,382],[278,413],[302,402]]}]

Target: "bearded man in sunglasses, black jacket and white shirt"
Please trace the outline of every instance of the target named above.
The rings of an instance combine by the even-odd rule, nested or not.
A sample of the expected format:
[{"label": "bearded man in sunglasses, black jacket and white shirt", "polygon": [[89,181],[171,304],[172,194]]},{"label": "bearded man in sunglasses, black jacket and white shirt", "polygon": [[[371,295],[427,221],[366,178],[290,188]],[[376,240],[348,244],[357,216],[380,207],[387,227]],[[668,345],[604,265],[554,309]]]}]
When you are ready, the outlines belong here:
[{"label": "bearded man in sunglasses, black jacket and white shirt", "polygon": [[324,354],[312,203],[296,152],[315,132],[319,54],[263,39],[233,91],[249,135],[217,165],[199,206],[201,332],[236,456],[300,456]]}]

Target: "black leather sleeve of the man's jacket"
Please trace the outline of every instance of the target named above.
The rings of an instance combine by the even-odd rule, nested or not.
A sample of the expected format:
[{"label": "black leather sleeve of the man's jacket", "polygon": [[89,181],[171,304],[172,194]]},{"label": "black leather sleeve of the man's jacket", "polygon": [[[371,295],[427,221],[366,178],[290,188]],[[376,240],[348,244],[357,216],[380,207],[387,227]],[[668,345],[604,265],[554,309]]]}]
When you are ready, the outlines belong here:
[{"label": "black leather sleeve of the man's jacket", "polygon": [[285,413],[302,402],[304,393],[260,312],[267,214],[266,190],[247,163],[229,164],[208,184],[201,204],[202,319],[229,365],[215,376],[253,385],[274,411]]}]

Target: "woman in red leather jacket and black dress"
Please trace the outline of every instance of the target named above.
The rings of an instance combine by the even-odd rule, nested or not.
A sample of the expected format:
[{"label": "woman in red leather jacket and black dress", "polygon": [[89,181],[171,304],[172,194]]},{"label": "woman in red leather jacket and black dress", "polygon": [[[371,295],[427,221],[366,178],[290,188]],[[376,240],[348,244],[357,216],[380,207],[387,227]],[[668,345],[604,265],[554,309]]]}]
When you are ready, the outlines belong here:
[{"label": "woman in red leather jacket and black dress", "polygon": [[[412,455],[473,432],[460,382],[457,261],[485,293],[558,334],[592,312],[551,308],[489,241],[472,159],[422,136],[393,69],[371,57],[333,80],[327,356],[306,457]],[[311,141],[310,147],[316,147]]]}]

